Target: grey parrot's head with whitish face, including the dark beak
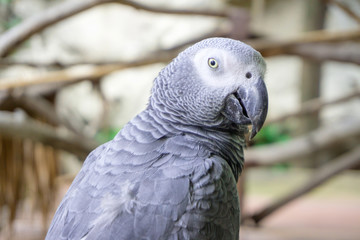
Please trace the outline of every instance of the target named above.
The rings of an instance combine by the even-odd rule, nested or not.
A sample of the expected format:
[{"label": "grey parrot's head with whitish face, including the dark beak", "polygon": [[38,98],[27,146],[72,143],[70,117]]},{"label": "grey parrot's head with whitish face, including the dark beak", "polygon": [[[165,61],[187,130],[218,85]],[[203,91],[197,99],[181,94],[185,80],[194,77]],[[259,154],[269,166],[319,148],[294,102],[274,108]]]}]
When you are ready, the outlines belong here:
[{"label": "grey parrot's head with whitish face, including the dark beak", "polygon": [[187,48],[155,79],[150,104],[170,121],[197,126],[264,124],[266,65],[252,47],[229,38],[209,38]]}]

